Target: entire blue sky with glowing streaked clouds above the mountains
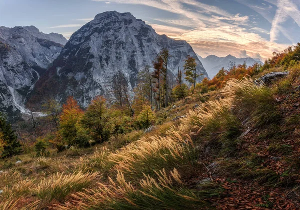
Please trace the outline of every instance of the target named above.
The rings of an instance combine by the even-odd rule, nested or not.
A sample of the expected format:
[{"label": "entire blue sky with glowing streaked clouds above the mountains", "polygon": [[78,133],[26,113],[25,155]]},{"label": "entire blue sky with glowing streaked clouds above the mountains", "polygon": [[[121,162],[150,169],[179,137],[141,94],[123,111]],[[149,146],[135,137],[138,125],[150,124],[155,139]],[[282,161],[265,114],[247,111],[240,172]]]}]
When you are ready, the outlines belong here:
[{"label": "entire blue sky with glowing streaked clouds above the mountains", "polygon": [[194,51],[260,58],[300,42],[300,0],[0,0],[0,26],[66,38],[104,11],[131,12]]}]

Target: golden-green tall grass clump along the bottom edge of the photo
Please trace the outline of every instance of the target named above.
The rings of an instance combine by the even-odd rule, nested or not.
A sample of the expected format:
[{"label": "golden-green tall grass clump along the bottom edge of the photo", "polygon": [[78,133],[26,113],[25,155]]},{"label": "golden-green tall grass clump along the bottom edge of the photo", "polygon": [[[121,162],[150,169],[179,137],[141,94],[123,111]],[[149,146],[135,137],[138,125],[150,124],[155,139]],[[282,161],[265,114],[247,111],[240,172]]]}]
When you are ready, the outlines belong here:
[{"label": "golden-green tall grass clump along the bottom edge of the photo", "polygon": [[[108,185],[98,184],[97,190],[78,193],[75,204],[60,206],[60,210],[183,210],[202,209],[208,205],[204,201],[217,192],[198,191],[186,188],[176,169],[166,173],[164,169],[155,172],[157,179],[144,175],[137,187],[126,182],[118,172],[115,181]],[[167,174],[170,174],[169,176]]]}]

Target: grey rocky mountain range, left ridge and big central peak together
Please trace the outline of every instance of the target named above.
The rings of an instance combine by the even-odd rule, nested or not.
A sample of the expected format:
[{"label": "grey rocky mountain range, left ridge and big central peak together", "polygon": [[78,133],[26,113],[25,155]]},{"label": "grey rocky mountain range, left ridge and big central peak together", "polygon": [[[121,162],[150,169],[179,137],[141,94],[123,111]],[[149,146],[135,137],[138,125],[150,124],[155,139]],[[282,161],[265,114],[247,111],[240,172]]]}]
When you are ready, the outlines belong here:
[{"label": "grey rocky mountain range, left ridge and big central peak together", "polygon": [[208,77],[192,47],[184,40],[159,35],[131,13],[108,11],[75,31],[67,41],[61,34],[34,26],[0,27],[0,111],[12,116],[28,113],[28,104],[47,98],[64,103],[74,96],[85,107],[96,95],[111,98],[111,80],[121,72],[129,93],[138,72],[163,48],[169,50],[169,78],[184,59],[196,59],[197,72]]}]

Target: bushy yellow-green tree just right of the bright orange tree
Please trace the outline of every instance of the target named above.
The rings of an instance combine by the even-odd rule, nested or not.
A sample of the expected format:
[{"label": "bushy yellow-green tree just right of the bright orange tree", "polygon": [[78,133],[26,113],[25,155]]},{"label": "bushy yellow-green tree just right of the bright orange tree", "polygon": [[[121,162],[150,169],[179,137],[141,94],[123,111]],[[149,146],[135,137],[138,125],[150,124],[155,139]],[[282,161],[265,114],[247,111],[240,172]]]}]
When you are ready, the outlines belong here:
[{"label": "bushy yellow-green tree just right of the bright orange tree", "polygon": [[85,111],[82,127],[91,131],[96,143],[106,141],[112,132],[112,118],[102,96],[96,96]]}]

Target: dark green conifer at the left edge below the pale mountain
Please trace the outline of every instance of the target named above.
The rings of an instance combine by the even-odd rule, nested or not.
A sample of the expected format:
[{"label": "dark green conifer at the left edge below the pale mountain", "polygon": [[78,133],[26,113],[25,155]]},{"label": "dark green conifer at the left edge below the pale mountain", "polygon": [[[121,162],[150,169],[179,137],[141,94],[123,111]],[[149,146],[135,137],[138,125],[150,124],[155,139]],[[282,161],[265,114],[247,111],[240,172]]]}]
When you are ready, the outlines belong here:
[{"label": "dark green conifer at the left edge below the pale mountain", "polygon": [[11,157],[21,151],[21,144],[17,140],[11,125],[0,115],[0,158]]}]

